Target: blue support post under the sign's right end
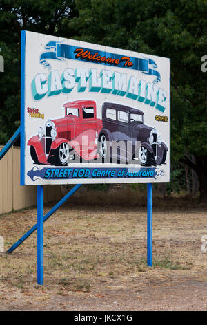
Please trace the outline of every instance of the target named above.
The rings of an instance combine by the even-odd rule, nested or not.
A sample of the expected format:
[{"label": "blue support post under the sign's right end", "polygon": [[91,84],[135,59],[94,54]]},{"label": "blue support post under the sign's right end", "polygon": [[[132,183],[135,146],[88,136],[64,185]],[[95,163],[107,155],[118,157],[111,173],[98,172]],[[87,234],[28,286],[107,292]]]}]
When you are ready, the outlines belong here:
[{"label": "blue support post under the sign's right end", "polygon": [[148,266],[152,266],[152,183],[148,183]]}]

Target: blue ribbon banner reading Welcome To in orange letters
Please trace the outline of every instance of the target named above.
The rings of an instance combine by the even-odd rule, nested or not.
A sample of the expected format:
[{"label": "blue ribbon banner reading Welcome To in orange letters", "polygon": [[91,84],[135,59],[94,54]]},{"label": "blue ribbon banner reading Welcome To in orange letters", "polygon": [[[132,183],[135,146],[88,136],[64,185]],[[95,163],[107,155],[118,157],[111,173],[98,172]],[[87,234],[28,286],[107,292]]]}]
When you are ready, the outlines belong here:
[{"label": "blue ribbon banner reading Welcome To in orange letters", "polygon": [[137,57],[126,57],[124,55],[91,50],[81,46],[62,44],[57,41],[49,41],[46,44],[46,52],[40,55],[40,63],[51,69],[48,59],[64,61],[65,59],[82,60],[96,64],[109,64],[119,68],[129,68],[141,71],[146,75],[155,75],[154,83],[161,81],[160,73],[157,71],[157,64],[152,59],[141,59]]}]

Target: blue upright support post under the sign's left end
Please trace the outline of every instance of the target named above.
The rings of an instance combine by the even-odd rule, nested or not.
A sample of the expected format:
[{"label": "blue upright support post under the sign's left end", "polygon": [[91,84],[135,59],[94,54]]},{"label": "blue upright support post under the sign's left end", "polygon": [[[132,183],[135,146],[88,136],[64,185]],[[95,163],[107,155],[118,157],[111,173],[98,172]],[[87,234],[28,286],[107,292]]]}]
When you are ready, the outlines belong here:
[{"label": "blue upright support post under the sign's left end", "polygon": [[37,283],[43,284],[43,185],[37,185]]}]

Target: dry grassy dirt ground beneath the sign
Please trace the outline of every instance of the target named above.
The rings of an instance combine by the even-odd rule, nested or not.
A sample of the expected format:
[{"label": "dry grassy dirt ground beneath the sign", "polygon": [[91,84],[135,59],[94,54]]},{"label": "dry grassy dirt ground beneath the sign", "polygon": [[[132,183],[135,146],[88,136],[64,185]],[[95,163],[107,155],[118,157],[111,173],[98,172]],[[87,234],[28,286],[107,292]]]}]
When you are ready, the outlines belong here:
[{"label": "dry grassy dirt ground beneath the sign", "polygon": [[[36,214],[0,216],[5,250]],[[44,225],[44,286],[37,285],[37,232],[0,254],[0,310],[206,310],[206,221],[204,207],[155,210],[148,268],[146,208],[64,205]]]}]

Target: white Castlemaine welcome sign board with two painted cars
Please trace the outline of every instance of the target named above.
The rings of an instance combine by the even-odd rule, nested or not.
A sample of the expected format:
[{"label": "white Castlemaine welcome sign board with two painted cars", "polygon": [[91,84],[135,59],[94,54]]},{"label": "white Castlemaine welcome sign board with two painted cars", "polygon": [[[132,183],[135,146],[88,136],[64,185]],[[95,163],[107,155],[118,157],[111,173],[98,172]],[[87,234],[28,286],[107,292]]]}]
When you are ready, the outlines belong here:
[{"label": "white Castlemaine welcome sign board with two painted cars", "polygon": [[21,185],[170,180],[170,60],[21,40]]}]

